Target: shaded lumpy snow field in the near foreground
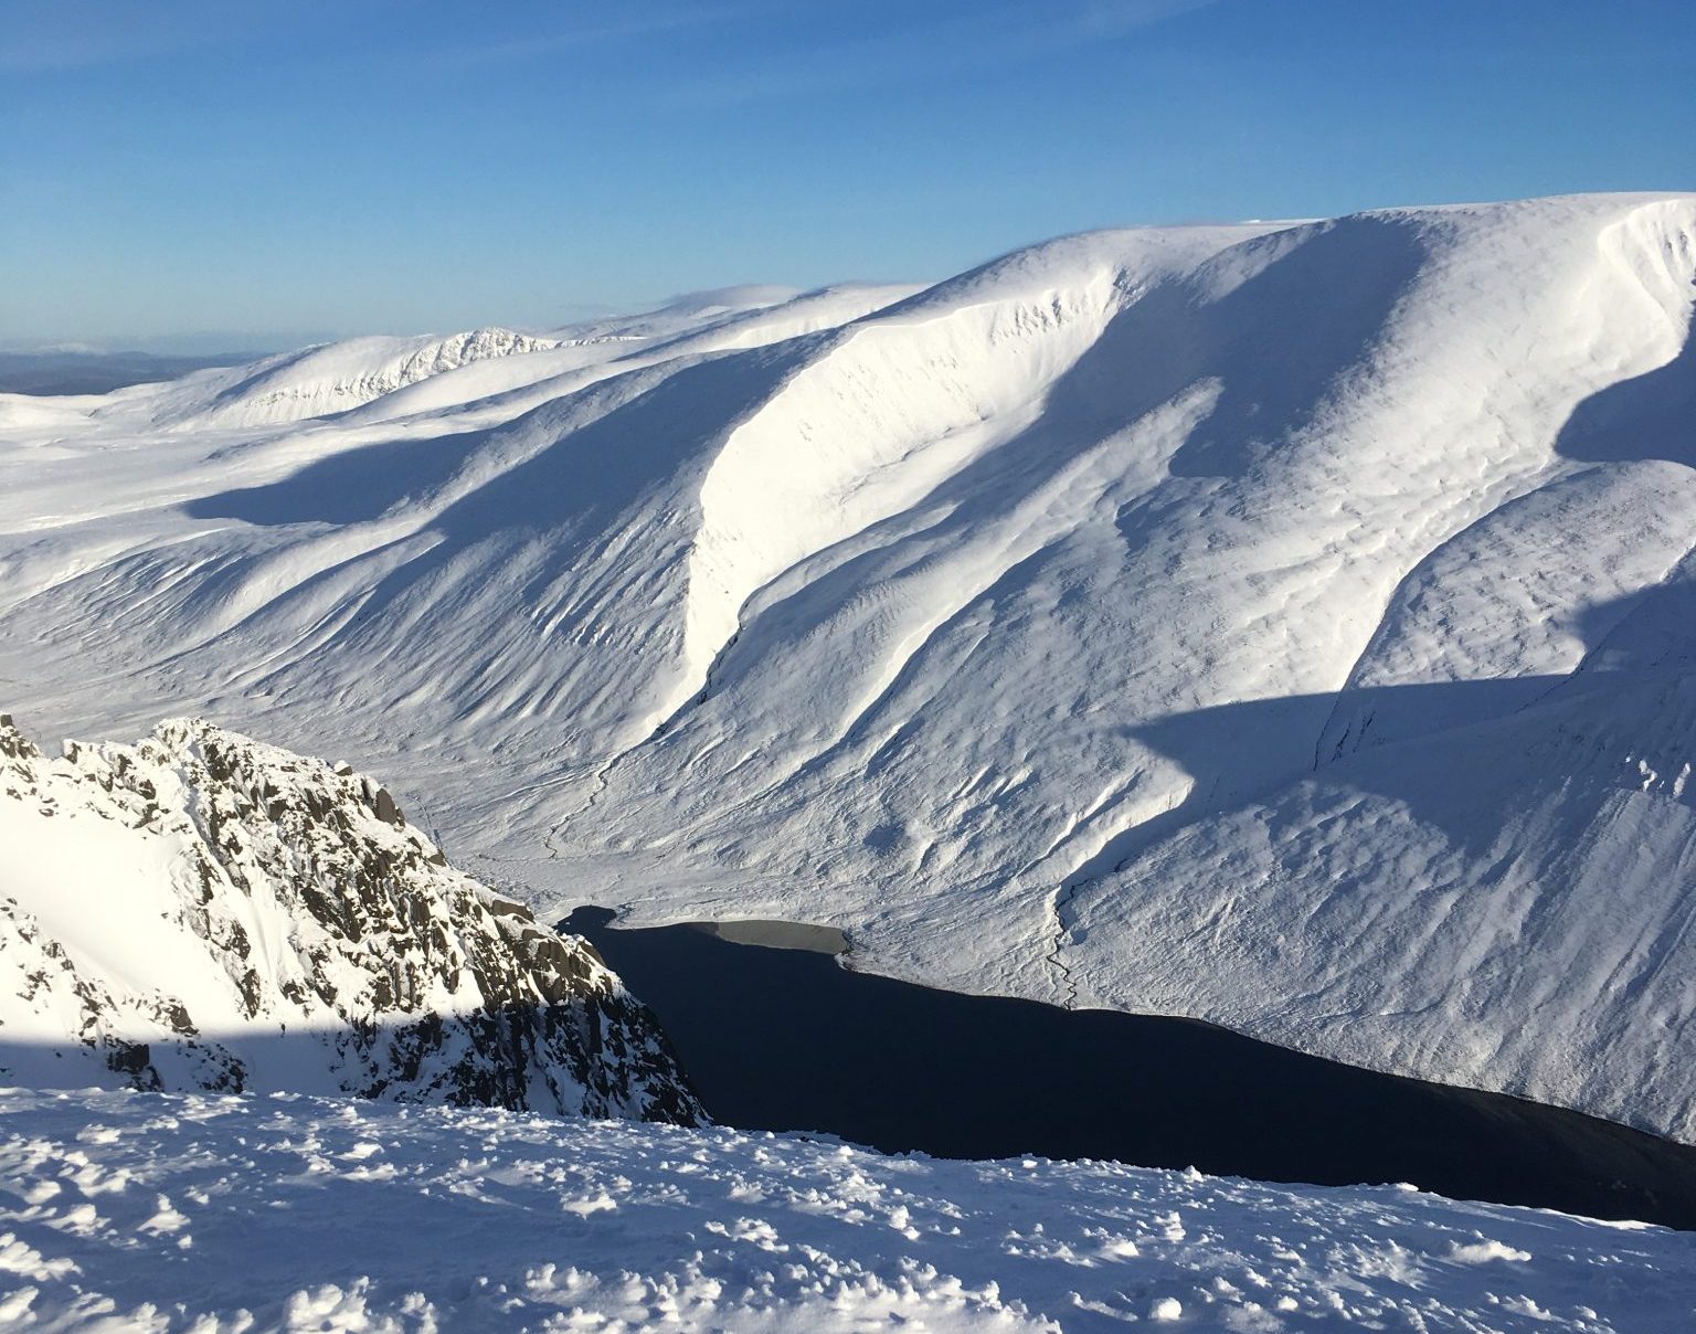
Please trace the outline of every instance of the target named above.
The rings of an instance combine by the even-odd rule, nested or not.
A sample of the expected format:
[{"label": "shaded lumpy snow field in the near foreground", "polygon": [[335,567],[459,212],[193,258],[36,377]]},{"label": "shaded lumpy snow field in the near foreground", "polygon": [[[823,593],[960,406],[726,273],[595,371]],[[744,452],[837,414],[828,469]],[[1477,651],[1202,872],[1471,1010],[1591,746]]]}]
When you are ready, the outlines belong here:
[{"label": "shaded lumpy snow field in the near foreground", "polygon": [[0,1093],[8,1329],[1693,1320],[1693,1234],[1396,1186],[304,1096]]}]

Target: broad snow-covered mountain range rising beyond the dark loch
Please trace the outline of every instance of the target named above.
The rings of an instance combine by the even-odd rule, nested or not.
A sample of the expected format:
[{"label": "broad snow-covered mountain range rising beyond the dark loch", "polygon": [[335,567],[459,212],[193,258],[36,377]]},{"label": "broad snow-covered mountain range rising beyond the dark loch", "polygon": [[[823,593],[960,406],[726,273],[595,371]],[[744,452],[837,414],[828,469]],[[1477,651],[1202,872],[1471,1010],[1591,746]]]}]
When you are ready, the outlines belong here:
[{"label": "broad snow-covered mountain range rising beyond the dark loch", "polygon": [[0,397],[0,686],[353,754],[548,910],[1696,1141],[1693,277],[1696,195],[1392,209],[307,421],[219,399],[253,368]]}]

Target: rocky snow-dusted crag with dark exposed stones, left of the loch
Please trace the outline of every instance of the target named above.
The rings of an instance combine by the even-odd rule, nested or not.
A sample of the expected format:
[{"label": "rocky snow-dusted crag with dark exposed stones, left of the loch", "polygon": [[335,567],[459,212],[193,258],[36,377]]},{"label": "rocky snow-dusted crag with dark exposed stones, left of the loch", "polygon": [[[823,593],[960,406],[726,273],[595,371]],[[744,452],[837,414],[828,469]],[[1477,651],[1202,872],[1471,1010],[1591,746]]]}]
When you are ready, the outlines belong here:
[{"label": "rocky snow-dusted crag with dark exposed stones, left of the loch", "polygon": [[47,759],[0,715],[0,1079],[702,1118],[585,940],[348,765],[183,720]]}]

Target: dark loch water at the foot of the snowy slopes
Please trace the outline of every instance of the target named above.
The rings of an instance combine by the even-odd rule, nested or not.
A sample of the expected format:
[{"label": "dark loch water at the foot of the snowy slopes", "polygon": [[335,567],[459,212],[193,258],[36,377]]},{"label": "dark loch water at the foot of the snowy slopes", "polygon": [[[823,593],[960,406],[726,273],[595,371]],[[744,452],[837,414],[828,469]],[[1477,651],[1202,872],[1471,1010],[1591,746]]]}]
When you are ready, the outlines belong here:
[{"label": "dark loch water at the foot of the snowy slopes", "polygon": [[[1520,1098],[1398,1079],[1192,1020],[963,996],[841,967],[792,923],[587,935],[660,1015],[712,1117],[938,1157],[1102,1157],[1221,1176],[1411,1181],[1696,1229],[1696,1149]],[[746,944],[770,939],[789,947]],[[736,937],[736,939],[726,939]]]}]

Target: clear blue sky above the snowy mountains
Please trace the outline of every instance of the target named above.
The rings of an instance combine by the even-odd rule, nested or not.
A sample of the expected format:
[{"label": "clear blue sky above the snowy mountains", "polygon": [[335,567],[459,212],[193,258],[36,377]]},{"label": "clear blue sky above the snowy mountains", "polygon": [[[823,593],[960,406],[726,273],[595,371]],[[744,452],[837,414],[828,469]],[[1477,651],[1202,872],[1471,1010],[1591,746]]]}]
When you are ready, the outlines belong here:
[{"label": "clear blue sky above the snowy mountains", "polygon": [[3,0],[0,345],[546,326],[1696,188],[1691,0]]}]

